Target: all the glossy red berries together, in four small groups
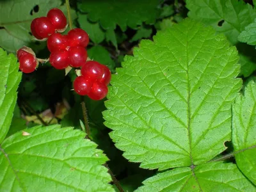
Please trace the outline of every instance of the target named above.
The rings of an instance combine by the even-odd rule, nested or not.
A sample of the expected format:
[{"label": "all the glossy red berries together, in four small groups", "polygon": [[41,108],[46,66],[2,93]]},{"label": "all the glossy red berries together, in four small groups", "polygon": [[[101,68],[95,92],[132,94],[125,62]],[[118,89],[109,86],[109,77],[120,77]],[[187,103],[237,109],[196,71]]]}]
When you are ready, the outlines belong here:
[{"label": "all the glossy red berries together, in four small groups", "polygon": [[[71,29],[67,35],[61,35],[67,28],[67,19],[58,8],[53,8],[47,17],[39,17],[31,22],[31,33],[37,40],[47,40],[51,52],[49,63],[56,69],[67,67],[81,68],[81,76],[74,81],[74,90],[79,95],[88,95],[93,100],[100,100],[108,93],[111,72],[108,67],[97,61],[87,61],[86,47],[89,36],[83,29]],[[20,70],[33,72],[40,59],[29,47],[17,51]]]}]

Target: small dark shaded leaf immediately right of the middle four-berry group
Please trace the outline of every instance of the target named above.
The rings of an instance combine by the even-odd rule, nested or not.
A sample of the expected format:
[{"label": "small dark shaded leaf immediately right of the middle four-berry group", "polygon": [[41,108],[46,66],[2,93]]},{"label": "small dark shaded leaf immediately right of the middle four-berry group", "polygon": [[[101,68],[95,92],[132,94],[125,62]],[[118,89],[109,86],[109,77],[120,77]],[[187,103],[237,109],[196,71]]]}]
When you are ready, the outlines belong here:
[{"label": "small dark shaded leaf immediately right of the middle four-berry group", "polygon": [[115,62],[111,60],[110,53],[104,47],[96,45],[88,49],[88,56],[91,60],[98,61],[103,65],[107,65],[110,70],[115,67]]}]

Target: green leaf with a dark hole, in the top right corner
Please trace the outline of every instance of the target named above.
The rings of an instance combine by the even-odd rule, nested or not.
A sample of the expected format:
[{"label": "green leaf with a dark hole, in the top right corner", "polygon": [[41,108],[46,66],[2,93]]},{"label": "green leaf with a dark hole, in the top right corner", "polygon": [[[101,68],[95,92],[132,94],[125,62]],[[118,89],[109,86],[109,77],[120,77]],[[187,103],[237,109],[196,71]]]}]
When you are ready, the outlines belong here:
[{"label": "green leaf with a dark hole, in the top right corner", "polygon": [[188,16],[212,26],[219,33],[225,33],[232,45],[248,24],[256,19],[256,12],[250,4],[234,0],[187,0]]}]

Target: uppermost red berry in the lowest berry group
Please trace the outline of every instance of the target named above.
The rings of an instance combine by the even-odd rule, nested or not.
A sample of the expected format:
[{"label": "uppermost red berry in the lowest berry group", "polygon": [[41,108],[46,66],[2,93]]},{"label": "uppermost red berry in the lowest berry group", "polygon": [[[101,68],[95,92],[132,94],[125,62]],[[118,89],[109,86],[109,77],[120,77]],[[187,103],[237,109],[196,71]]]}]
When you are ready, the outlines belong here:
[{"label": "uppermost red berry in the lowest berry group", "polygon": [[87,61],[81,68],[81,74],[84,77],[90,77],[93,81],[100,79],[104,72],[102,66],[97,61]]}]

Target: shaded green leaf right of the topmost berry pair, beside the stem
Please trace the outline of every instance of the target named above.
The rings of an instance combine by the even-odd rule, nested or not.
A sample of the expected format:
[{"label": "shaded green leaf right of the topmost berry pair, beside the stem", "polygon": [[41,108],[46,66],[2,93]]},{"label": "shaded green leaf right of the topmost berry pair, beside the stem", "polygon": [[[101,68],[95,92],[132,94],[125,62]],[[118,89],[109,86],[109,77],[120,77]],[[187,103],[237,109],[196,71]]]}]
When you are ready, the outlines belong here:
[{"label": "shaded green leaf right of the topmost berry pair, beside the stem", "polygon": [[95,44],[100,44],[105,39],[105,32],[98,22],[90,22],[87,19],[87,15],[78,13],[78,22],[81,29],[84,29]]}]

